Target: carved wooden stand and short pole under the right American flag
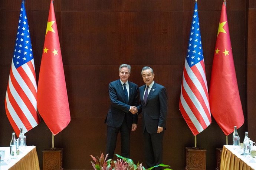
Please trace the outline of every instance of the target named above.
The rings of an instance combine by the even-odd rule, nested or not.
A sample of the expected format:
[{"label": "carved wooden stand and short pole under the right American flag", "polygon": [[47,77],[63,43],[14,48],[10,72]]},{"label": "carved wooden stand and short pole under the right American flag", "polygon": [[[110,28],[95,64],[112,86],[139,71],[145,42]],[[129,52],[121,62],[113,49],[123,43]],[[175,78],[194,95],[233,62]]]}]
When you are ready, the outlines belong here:
[{"label": "carved wooden stand and short pole under the right American flag", "polygon": [[206,170],[206,150],[195,146],[186,147],[186,168],[185,170]]}]

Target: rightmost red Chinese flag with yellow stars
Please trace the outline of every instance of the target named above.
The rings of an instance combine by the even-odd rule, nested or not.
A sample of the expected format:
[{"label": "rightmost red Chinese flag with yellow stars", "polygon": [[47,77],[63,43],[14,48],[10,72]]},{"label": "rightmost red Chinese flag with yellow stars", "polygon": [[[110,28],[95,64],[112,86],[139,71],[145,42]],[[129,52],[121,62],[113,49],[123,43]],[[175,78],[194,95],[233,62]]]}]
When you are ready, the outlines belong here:
[{"label": "rightmost red Chinese flag with yellow stars", "polygon": [[210,109],[225,135],[244,123],[232,47],[227,23],[226,5],[223,3],[217,34],[210,82]]}]

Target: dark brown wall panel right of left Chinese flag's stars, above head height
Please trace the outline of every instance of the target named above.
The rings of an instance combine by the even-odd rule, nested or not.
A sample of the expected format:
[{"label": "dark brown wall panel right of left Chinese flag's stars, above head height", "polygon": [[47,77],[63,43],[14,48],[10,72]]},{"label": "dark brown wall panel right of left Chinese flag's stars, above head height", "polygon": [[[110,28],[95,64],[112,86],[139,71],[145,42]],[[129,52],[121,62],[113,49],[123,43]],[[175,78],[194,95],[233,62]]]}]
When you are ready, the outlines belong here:
[{"label": "dark brown wall panel right of left Chinese flag's stars, above head height", "polygon": [[119,64],[122,56],[122,14],[63,12],[63,63]]}]

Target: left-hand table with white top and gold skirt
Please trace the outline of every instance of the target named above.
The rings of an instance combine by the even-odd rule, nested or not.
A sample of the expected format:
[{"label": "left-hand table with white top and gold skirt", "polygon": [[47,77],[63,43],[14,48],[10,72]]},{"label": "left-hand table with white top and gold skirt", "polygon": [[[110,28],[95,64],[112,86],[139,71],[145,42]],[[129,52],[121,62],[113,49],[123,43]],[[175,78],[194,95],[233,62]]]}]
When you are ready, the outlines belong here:
[{"label": "left-hand table with white top and gold skirt", "polygon": [[0,147],[0,150],[5,150],[1,170],[40,170],[35,146],[21,148],[15,159],[10,158],[10,147]]}]

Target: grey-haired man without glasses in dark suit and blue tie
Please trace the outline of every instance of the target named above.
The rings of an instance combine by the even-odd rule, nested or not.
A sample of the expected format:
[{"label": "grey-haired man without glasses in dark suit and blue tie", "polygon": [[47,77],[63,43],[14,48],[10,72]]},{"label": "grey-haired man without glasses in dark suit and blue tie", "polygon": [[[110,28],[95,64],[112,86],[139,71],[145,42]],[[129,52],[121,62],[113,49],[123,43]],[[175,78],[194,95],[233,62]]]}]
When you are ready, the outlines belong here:
[{"label": "grey-haired man without glasses in dark suit and blue tie", "polygon": [[130,156],[130,132],[136,130],[139,105],[138,85],[128,78],[131,74],[131,66],[122,64],[119,67],[120,79],[109,83],[108,91],[111,101],[105,123],[107,126],[106,153],[108,159],[113,159],[118,133],[121,134],[121,156]]}]

